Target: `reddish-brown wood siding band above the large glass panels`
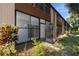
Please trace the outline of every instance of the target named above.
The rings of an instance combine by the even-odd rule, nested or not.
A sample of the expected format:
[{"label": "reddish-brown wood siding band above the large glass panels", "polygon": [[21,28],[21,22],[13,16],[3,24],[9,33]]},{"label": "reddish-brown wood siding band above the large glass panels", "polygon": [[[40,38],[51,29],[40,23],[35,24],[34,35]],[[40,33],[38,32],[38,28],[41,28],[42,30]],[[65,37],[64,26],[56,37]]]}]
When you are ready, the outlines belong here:
[{"label": "reddish-brown wood siding band above the large glass panels", "polygon": [[50,21],[50,15],[44,13],[37,7],[33,7],[31,3],[16,3],[15,9]]}]

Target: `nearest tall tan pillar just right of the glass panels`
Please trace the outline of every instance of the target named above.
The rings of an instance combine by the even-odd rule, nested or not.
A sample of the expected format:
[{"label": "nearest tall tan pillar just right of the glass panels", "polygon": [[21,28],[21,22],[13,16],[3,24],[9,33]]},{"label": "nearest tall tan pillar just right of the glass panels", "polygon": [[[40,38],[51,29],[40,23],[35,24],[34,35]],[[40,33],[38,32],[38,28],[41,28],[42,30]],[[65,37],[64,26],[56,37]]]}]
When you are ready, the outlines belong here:
[{"label": "nearest tall tan pillar just right of the glass panels", "polygon": [[52,30],[52,34],[53,34],[53,38],[52,41],[55,42],[56,41],[56,33],[57,33],[57,14],[56,12],[51,8],[51,23],[53,24],[53,30]]}]

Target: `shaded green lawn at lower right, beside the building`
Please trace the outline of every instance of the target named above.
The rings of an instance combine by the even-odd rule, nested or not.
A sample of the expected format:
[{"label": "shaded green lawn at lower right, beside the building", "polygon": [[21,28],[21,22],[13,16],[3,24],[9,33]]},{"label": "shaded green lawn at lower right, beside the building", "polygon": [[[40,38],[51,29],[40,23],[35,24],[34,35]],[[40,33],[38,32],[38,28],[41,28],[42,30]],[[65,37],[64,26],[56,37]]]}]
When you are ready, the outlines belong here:
[{"label": "shaded green lawn at lower right, beside the building", "polygon": [[51,55],[79,55],[79,32],[67,35],[67,37],[56,42],[54,46],[60,47],[60,50],[52,53]]}]

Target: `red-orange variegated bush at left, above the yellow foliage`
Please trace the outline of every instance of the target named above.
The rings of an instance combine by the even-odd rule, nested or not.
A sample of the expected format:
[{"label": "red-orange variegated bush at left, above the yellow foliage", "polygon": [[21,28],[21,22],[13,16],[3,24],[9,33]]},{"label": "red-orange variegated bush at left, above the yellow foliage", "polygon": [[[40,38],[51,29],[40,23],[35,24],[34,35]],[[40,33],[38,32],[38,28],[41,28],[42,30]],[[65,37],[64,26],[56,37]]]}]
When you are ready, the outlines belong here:
[{"label": "red-orange variegated bush at left, above the yellow foliage", "polygon": [[0,32],[0,45],[15,41],[18,29],[14,25],[3,24]]}]

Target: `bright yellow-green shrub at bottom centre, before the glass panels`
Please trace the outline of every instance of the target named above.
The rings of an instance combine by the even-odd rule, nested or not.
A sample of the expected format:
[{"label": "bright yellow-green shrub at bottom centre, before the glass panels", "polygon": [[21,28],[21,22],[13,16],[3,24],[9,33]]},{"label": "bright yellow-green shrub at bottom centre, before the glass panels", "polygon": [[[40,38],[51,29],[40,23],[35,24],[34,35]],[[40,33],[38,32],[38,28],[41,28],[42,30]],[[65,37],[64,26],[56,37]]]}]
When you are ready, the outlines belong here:
[{"label": "bright yellow-green shrub at bottom centre, before the glass panels", "polygon": [[35,45],[32,55],[35,55],[35,56],[43,55],[44,54],[43,44],[41,44],[40,41],[37,41],[36,38],[33,38],[32,41],[33,41],[33,45]]}]

